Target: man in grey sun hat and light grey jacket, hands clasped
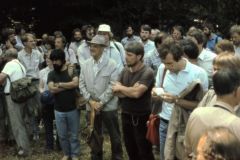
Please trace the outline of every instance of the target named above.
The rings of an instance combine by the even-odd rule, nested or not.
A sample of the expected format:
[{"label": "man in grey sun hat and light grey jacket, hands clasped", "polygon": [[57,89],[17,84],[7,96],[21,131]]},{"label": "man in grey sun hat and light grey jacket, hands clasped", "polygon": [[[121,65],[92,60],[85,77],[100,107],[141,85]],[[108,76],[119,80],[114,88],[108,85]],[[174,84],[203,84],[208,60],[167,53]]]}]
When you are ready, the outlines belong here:
[{"label": "man in grey sun hat and light grey jacket, hands clasped", "polygon": [[[120,160],[122,144],[117,114],[118,99],[112,93],[112,85],[118,78],[119,70],[116,62],[104,54],[108,41],[103,35],[96,35],[89,44],[92,57],[81,66],[79,88],[88,101],[87,110],[94,109],[96,112],[94,129],[102,136],[104,123],[111,140],[112,159]],[[91,156],[93,160],[103,159],[102,149],[100,152],[92,150]]]}]

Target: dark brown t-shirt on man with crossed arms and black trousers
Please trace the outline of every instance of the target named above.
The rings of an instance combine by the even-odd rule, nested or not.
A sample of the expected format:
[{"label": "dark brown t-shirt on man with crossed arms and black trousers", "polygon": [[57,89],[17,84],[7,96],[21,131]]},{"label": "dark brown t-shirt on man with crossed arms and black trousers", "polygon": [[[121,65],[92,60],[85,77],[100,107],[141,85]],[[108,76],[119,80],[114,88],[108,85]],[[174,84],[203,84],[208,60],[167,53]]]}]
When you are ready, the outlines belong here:
[{"label": "dark brown t-shirt on man with crossed arms and black trousers", "polygon": [[147,86],[147,91],[139,98],[120,98],[123,113],[129,114],[149,114],[151,112],[151,91],[154,86],[154,74],[150,67],[144,66],[137,72],[130,72],[124,68],[119,77],[126,87],[134,86],[136,82]]}]

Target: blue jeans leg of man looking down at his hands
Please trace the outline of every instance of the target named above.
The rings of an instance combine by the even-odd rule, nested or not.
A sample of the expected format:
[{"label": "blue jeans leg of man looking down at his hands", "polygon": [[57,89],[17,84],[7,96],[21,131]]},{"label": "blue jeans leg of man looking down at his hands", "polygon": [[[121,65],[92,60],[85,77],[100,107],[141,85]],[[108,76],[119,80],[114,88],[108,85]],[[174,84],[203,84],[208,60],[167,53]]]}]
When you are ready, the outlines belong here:
[{"label": "blue jeans leg of man looking down at his hands", "polygon": [[168,123],[163,121],[160,118],[160,125],[159,125],[159,134],[160,134],[160,159],[164,159],[164,147],[165,147],[165,141],[167,137],[167,130],[168,130]]}]

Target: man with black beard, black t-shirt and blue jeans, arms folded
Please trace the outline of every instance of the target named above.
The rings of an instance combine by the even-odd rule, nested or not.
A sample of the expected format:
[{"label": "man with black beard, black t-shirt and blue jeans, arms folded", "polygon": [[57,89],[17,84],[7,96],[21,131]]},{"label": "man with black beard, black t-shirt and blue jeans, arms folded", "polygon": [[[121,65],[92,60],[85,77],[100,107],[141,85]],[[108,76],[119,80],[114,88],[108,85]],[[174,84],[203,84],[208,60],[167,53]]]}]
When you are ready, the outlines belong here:
[{"label": "man with black beard, black t-shirt and blue jeans, arms folded", "polygon": [[75,71],[72,76],[69,75],[63,50],[53,50],[50,59],[54,70],[48,74],[47,83],[55,99],[57,132],[64,153],[62,160],[69,158],[77,160],[80,153],[78,140],[80,115],[75,103],[78,75]]}]

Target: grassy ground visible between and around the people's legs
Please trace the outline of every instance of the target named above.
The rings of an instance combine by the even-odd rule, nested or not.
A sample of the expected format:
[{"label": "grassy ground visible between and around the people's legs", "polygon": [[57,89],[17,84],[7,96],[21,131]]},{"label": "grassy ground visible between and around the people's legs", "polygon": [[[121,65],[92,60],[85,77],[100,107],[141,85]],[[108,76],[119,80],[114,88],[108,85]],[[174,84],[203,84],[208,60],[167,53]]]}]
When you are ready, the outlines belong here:
[{"label": "grassy ground visible between and around the people's legs", "polygon": [[[81,114],[81,128],[83,128],[86,124],[85,121],[85,113]],[[120,122],[121,123],[121,122]],[[32,141],[32,155],[25,158],[20,158],[16,155],[16,145],[12,146],[6,146],[2,149],[0,149],[0,160],[60,160],[63,156],[61,151],[54,150],[51,153],[45,154],[44,153],[44,146],[45,146],[45,137],[44,137],[44,128],[40,128],[40,139],[38,141]],[[81,134],[79,137],[80,139],[80,160],[90,160],[90,148],[86,144],[86,137],[84,134]],[[128,156],[125,150],[124,143],[123,145],[123,156],[124,160],[128,160]],[[104,135],[104,146],[103,146],[103,159],[104,160],[110,160],[111,159],[111,144],[110,144],[110,138],[106,134]],[[156,160],[159,159],[158,154],[155,153]]]}]

